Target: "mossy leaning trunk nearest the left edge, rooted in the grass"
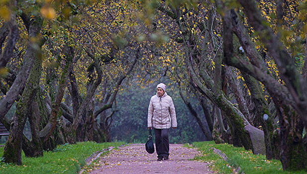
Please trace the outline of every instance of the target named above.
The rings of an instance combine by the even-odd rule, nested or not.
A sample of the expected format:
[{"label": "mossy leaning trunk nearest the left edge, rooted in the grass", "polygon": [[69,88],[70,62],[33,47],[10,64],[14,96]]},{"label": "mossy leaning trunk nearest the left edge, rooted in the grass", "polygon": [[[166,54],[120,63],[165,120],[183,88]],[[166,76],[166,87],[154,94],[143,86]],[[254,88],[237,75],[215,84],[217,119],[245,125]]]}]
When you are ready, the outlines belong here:
[{"label": "mossy leaning trunk nearest the left edge, rooted in the grass", "polygon": [[[33,25],[29,26],[29,37],[39,36],[42,21],[41,17],[35,17],[35,22],[32,22]],[[32,114],[29,113],[29,108],[34,100],[36,91],[39,90],[39,80],[42,71],[41,46],[38,43],[31,42],[31,39],[29,39],[28,47],[31,49],[28,50],[29,54],[27,56],[33,56],[35,60],[22,96],[16,104],[15,115],[10,125],[10,133],[2,156],[6,163],[14,163],[17,165],[22,164],[21,148],[23,128],[27,115]]]}]

